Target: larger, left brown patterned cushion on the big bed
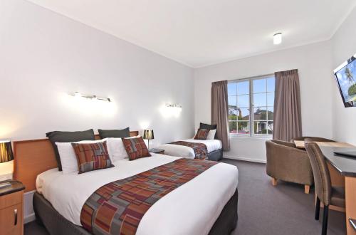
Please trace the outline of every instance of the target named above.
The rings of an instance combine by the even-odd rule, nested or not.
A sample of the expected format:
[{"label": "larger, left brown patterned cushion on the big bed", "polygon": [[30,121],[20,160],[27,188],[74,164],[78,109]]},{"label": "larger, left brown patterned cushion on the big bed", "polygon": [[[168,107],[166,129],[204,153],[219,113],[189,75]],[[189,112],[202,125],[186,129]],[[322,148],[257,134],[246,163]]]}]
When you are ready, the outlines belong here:
[{"label": "larger, left brown patterned cushion on the big bed", "polygon": [[78,174],[114,167],[111,164],[106,141],[92,144],[72,143],[72,146],[78,161]]}]

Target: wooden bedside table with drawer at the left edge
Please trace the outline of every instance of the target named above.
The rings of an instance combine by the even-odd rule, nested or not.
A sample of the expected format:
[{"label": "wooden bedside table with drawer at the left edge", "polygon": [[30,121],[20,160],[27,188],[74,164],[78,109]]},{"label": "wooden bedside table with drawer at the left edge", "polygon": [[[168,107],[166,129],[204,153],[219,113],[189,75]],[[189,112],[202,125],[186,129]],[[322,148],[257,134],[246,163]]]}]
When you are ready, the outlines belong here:
[{"label": "wooden bedside table with drawer at the left edge", "polygon": [[[23,234],[23,184],[16,180],[0,188],[0,234]],[[3,182],[0,182],[3,183]]]}]

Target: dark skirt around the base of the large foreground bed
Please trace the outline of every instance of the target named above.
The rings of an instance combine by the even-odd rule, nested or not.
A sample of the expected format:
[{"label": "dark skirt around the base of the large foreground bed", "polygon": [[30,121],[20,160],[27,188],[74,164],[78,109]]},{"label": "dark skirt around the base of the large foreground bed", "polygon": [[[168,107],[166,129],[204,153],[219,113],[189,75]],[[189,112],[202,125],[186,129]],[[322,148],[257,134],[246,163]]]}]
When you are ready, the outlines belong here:
[{"label": "dark skirt around the base of the large foreground bed", "polygon": [[[209,235],[231,234],[237,224],[237,202],[239,192],[236,192],[226,203],[218,219],[211,228]],[[43,224],[51,235],[89,235],[83,227],[73,224],[56,211],[42,194],[33,194],[33,210],[38,223]]]}]

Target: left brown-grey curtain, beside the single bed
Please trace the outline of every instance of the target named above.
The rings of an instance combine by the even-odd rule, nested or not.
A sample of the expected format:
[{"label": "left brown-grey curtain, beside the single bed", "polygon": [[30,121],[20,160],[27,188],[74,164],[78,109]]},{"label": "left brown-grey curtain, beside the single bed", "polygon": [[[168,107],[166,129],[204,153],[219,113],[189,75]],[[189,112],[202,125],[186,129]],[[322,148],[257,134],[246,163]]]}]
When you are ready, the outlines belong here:
[{"label": "left brown-grey curtain, beside the single bed", "polygon": [[216,124],[216,137],[221,140],[224,151],[230,150],[229,107],[227,80],[211,83],[211,124]]}]

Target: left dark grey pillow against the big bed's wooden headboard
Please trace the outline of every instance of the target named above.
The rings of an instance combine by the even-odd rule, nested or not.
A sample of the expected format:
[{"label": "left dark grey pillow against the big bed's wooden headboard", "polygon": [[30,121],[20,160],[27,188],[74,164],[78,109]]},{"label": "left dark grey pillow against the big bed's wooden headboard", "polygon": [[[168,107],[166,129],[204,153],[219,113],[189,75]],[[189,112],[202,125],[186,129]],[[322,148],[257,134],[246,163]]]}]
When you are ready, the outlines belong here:
[{"label": "left dark grey pillow against the big bed's wooden headboard", "polygon": [[95,140],[94,130],[85,131],[53,131],[46,133],[49,141],[51,141],[54,154],[58,164],[58,169],[62,171],[61,157],[59,157],[56,142],[77,142],[81,140]]}]

